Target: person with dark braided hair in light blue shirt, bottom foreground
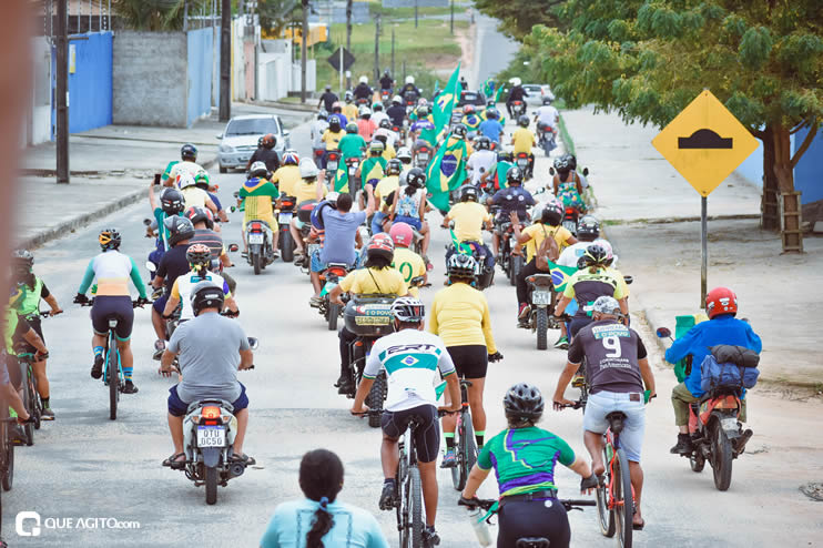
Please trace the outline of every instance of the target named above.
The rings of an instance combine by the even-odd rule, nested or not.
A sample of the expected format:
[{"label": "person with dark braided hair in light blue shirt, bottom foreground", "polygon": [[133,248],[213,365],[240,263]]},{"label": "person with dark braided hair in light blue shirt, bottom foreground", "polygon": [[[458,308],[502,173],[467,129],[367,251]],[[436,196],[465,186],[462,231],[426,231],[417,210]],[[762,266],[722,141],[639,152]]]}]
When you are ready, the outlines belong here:
[{"label": "person with dark braided hair in light blue shirt, bottom foreground", "polygon": [[343,463],[337,455],[326,449],[303,455],[299,486],[306,498],[277,505],[260,540],[261,548],[388,548],[374,516],[337,500],[343,489]]}]

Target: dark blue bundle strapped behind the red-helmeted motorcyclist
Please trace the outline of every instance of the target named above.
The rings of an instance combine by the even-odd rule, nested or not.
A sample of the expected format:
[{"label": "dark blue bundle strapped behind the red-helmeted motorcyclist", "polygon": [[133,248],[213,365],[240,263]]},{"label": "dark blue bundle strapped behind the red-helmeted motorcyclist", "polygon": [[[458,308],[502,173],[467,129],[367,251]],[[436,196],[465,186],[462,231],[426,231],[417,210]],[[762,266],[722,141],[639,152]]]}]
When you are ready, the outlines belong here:
[{"label": "dark blue bundle strapped behind the red-helmeted motorcyclist", "polygon": [[705,392],[753,388],[760,376],[759,363],[758,353],[744,346],[712,346],[711,354],[701,364],[700,387]]}]

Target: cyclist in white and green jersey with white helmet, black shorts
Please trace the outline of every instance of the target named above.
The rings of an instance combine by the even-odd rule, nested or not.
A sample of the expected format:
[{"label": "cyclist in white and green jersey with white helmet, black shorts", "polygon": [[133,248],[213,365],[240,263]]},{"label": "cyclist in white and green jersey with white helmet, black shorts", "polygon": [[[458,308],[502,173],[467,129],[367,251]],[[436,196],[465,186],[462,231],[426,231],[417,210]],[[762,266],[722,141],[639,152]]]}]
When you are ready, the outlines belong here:
[{"label": "cyclist in white and green jersey with white helmet, black shorts", "polygon": [[[417,417],[415,446],[426,507],[423,542],[424,546],[433,547],[439,544],[439,537],[435,532],[438,495],[437,454],[440,448],[437,412],[456,413],[460,409],[460,385],[455,375],[455,364],[440,337],[424,331],[426,312],[423,303],[415,297],[397,298],[392,304],[392,316],[395,332],[377,339],[368,354],[352,414],[363,414],[367,410],[363,403],[374,379],[385,371],[388,396],[380,418],[383,428],[380,461],[385,479],[379,506],[382,510],[394,510],[399,503],[396,474],[400,456],[397,442],[408,428],[408,419]],[[402,367],[395,365],[406,364],[404,361],[413,363]],[[450,406],[437,406],[435,384],[439,383],[441,377],[446,379],[453,402]]]}]

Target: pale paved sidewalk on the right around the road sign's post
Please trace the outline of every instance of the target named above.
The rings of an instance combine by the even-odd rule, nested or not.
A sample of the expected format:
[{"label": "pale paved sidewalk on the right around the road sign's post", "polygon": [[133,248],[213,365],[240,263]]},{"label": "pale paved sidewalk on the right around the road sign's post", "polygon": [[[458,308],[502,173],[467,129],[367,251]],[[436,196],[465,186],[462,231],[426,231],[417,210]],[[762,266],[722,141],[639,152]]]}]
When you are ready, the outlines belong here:
[{"label": "pale paved sidewalk on the right around the road sign's post", "polygon": [[[700,301],[700,195],[651,145],[659,130],[626,125],[592,109],[562,113],[578,163],[591,172],[593,212],[623,274],[634,276],[630,308],[652,329],[674,328]],[[759,227],[760,189],[732,174],[709,196],[709,282],[731,287],[763,339],[761,378],[823,383],[817,311],[823,307],[823,239],[803,255],[781,255],[780,235]],[[713,219],[714,217],[714,219]]]}]

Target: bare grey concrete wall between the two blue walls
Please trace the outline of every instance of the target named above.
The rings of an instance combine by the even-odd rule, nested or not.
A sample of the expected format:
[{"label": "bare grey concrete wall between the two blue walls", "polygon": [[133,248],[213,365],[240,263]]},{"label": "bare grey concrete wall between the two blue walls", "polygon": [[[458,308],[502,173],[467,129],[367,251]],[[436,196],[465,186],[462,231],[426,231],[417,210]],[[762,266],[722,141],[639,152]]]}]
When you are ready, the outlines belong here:
[{"label": "bare grey concrete wall between the two blue walls", "polygon": [[185,128],[186,35],[120,31],[114,39],[115,124]]}]

